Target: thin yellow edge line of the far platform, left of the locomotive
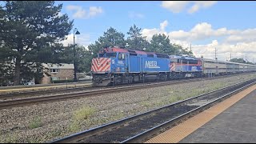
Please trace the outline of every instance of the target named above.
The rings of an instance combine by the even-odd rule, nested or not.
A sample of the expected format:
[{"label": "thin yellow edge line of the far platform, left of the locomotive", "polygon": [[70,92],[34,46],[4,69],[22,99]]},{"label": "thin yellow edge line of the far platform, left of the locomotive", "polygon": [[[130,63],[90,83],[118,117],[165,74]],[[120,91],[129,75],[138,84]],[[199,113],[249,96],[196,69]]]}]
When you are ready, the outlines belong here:
[{"label": "thin yellow edge line of the far platform, left of the locomotive", "polygon": [[[91,86],[91,83],[67,85],[67,87],[77,87],[77,86]],[[57,88],[57,87],[66,87],[66,85],[62,85],[62,86],[26,87],[26,88],[20,88],[20,89],[0,90],[0,92],[7,92],[7,91],[19,91],[19,90],[50,89],[50,88]]]}]

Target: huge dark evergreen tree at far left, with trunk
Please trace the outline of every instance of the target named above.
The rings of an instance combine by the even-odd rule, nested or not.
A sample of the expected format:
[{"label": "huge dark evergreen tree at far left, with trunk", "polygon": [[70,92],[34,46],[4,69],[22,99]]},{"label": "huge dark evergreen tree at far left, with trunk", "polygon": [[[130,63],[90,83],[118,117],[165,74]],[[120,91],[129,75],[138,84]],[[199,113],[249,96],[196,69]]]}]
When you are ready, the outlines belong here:
[{"label": "huge dark evergreen tree at far left, with trunk", "polygon": [[[58,62],[62,41],[73,26],[66,14],[58,15],[62,4],[54,1],[6,1],[0,8],[0,46],[12,51],[15,60],[14,85],[21,68],[35,62]],[[34,66],[38,66],[35,64]]]}]

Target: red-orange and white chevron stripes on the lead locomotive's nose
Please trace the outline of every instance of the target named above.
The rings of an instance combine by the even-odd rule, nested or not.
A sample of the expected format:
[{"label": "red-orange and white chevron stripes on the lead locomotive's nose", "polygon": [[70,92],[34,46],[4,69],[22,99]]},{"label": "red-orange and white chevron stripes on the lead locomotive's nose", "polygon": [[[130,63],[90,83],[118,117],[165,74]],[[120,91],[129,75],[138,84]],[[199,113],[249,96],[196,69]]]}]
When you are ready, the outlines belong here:
[{"label": "red-orange and white chevron stripes on the lead locomotive's nose", "polygon": [[91,70],[94,72],[106,72],[106,70],[110,70],[110,62],[110,58],[93,58]]}]

